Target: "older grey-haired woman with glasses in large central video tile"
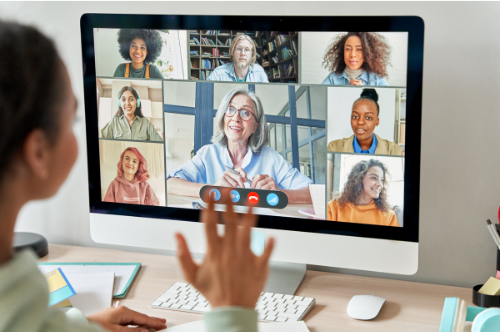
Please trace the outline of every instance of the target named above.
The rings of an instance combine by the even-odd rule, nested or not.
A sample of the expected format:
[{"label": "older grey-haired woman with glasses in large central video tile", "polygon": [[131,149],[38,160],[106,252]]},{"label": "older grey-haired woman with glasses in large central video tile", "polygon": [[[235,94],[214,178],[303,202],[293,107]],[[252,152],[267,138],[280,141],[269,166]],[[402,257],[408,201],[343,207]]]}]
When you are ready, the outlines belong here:
[{"label": "older grey-haired woman with glasses in large central video tile", "polygon": [[[170,194],[199,197],[206,184],[281,190],[289,203],[311,203],[311,179],[267,146],[268,127],[260,99],[245,88],[229,91],[215,116],[213,144],[170,173]],[[235,174],[226,166],[235,170]]]}]

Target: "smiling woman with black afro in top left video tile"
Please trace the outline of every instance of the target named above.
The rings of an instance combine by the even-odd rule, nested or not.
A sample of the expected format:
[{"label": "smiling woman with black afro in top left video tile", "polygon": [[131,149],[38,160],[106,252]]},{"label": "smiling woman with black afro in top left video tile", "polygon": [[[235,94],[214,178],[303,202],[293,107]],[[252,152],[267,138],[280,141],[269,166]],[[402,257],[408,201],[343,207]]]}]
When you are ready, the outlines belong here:
[{"label": "smiling woman with black afro in top left video tile", "polygon": [[156,30],[120,29],[119,51],[125,60],[131,62],[118,65],[113,77],[163,79],[161,71],[153,64],[161,54],[162,44]]}]

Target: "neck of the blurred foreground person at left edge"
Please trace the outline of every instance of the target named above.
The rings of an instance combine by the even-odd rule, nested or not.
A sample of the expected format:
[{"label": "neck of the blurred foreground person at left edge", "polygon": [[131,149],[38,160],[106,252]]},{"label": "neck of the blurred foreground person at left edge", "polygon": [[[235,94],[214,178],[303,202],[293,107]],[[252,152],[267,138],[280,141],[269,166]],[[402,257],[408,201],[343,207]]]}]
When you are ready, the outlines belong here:
[{"label": "neck of the blurred foreground person at left edge", "polygon": [[14,228],[17,216],[21,208],[28,202],[23,199],[22,185],[9,185],[7,177],[4,177],[2,190],[0,191],[0,266],[12,258],[12,246],[14,242]]}]

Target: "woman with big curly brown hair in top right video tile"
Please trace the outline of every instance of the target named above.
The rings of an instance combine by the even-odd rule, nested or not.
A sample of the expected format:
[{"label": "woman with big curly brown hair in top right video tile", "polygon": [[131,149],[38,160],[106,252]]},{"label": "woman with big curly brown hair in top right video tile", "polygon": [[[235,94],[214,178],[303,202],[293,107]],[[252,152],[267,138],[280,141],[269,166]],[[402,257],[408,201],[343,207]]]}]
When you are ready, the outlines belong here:
[{"label": "woman with big curly brown hair in top right video tile", "polygon": [[384,77],[390,65],[390,46],[375,32],[339,35],[323,60],[331,73],[323,84],[388,86]]}]

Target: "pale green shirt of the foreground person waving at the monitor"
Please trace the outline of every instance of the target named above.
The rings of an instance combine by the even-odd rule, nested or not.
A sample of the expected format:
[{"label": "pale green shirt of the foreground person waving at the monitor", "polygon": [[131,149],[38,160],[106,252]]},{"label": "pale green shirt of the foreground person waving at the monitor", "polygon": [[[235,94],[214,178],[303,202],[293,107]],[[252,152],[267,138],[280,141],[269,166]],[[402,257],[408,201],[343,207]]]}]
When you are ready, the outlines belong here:
[{"label": "pale green shirt of the foreground person waving at the monitor", "polygon": [[[47,281],[31,249],[0,265],[0,280],[0,332],[105,332],[76,308],[63,313],[47,306]],[[204,320],[207,332],[257,332],[257,312],[252,309],[216,308]]]}]

